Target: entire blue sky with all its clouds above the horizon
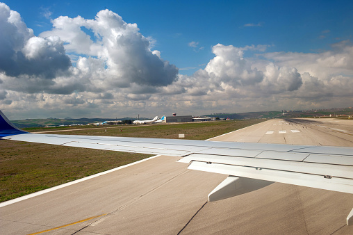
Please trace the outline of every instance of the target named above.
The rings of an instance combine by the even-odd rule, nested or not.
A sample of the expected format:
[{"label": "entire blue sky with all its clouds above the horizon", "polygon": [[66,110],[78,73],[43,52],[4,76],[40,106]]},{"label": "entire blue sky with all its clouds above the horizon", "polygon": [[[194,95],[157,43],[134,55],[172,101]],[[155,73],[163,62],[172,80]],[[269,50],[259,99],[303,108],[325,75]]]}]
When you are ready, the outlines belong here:
[{"label": "entire blue sky with all its clouds above the horizon", "polygon": [[0,110],[19,120],[350,107],[352,10],[353,1],[2,1]]}]

